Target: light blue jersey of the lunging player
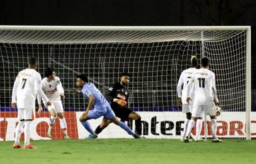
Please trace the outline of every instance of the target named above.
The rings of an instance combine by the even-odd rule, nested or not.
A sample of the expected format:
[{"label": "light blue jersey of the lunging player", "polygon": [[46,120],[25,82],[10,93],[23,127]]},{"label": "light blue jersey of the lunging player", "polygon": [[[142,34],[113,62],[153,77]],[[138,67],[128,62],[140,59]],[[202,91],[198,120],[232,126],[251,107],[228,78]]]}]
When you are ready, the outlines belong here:
[{"label": "light blue jersey of the lunging player", "polygon": [[89,97],[89,95],[91,94],[93,95],[95,109],[105,108],[109,106],[109,103],[106,100],[106,98],[102,95],[102,93],[97,89],[97,87],[93,83],[89,82],[86,85],[84,85],[82,92],[85,97]]}]

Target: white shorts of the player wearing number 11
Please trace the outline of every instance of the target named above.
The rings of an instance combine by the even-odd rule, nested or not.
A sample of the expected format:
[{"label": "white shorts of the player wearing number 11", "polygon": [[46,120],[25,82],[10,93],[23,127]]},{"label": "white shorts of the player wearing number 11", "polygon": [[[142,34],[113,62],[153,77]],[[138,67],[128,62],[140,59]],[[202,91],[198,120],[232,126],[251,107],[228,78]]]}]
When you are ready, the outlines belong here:
[{"label": "white shorts of the player wearing number 11", "polygon": [[214,116],[216,109],[214,103],[210,105],[193,105],[192,117],[202,117],[202,114]]}]

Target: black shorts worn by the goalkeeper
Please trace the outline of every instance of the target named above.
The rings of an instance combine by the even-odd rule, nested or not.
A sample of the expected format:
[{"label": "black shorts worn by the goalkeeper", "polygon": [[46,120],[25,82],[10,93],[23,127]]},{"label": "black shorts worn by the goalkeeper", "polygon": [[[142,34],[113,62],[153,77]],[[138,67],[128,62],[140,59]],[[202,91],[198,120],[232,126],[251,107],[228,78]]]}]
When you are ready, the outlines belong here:
[{"label": "black shorts worn by the goalkeeper", "polygon": [[110,106],[114,111],[116,117],[121,118],[122,121],[128,121],[129,114],[132,112],[131,109],[121,106],[116,102],[112,102]]}]

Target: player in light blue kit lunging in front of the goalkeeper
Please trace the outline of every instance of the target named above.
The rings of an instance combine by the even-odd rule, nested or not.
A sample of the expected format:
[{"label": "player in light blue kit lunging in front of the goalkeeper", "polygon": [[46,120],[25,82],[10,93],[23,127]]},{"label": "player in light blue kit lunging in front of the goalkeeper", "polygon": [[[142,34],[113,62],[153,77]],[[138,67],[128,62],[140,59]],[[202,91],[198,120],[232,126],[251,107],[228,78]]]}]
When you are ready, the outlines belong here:
[{"label": "player in light blue kit lunging in front of the goalkeeper", "polygon": [[[120,126],[128,134],[131,134],[134,138],[140,138],[138,134],[134,133],[129,128],[129,126],[117,119],[106,98],[97,89],[97,87],[95,87],[93,83],[89,82],[86,75],[78,75],[76,79],[76,86],[82,88],[83,95],[89,98],[89,104],[87,106],[87,109],[79,119],[84,128],[90,133],[88,138],[97,138],[98,136],[96,133],[94,133],[94,130],[91,128],[91,125],[87,120],[97,119],[101,116],[104,116],[104,118],[111,120],[114,124]],[[73,89],[73,92],[80,93],[80,91],[76,89]],[[94,109],[90,110],[93,104]]]}]

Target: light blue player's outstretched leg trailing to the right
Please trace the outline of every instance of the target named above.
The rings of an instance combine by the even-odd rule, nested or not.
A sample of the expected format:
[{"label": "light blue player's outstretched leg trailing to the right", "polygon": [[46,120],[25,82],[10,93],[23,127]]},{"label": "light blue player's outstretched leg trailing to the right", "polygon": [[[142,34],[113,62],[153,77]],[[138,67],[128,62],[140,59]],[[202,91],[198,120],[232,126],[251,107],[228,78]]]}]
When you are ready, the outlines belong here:
[{"label": "light blue player's outstretched leg trailing to the right", "polygon": [[128,134],[131,134],[134,138],[140,138],[138,134],[134,133],[131,128],[129,128],[128,125],[126,125],[124,122],[119,121],[117,117],[115,116],[113,110],[111,107],[106,107],[106,114],[104,115],[105,118],[108,118],[111,120],[114,124],[120,126],[122,129],[124,129]]}]

